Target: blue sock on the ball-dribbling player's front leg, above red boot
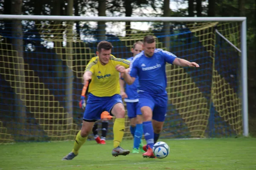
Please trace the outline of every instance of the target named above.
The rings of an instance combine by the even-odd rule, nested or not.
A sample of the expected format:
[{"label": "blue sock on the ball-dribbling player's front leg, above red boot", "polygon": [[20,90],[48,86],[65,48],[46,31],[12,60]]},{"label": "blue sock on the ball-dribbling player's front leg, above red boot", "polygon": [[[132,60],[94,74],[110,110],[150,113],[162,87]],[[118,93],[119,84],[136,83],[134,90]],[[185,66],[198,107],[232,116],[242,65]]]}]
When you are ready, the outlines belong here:
[{"label": "blue sock on the ball-dribbling player's front leg, above red boot", "polygon": [[147,145],[152,148],[154,145],[154,130],[151,121],[143,122],[143,131]]}]

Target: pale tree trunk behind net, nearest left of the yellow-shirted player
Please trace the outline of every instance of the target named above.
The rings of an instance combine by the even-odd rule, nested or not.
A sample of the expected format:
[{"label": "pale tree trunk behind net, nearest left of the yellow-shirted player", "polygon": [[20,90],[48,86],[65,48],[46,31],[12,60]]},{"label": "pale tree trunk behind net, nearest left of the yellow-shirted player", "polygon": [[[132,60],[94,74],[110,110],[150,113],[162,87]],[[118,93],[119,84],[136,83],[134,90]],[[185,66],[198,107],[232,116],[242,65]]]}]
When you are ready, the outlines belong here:
[{"label": "pale tree trunk behind net, nearest left of the yellow-shirted player", "polygon": [[[73,0],[67,0],[67,15],[73,16]],[[73,21],[67,22],[67,54],[66,54],[66,63],[67,67],[65,70],[66,73],[66,87],[65,87],[65,96],[66,96],[66,111],[67,111],[67,125],[68,129],[72,128],[73,123]]]}]

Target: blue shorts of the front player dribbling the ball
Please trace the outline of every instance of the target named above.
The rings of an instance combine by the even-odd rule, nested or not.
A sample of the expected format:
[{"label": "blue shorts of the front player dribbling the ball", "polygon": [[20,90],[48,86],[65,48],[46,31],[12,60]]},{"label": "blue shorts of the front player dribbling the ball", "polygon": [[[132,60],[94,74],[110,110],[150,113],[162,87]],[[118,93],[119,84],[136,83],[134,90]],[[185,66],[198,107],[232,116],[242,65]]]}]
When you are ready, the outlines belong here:
[{"label": "blue shorts of the front player dribbling the ball", "polygon": [[139,92],[139,106],[148,106],[152,109],[152,119],[158,122],[164,122],[167,112],[168,95],[167,94],[148,94]]}]

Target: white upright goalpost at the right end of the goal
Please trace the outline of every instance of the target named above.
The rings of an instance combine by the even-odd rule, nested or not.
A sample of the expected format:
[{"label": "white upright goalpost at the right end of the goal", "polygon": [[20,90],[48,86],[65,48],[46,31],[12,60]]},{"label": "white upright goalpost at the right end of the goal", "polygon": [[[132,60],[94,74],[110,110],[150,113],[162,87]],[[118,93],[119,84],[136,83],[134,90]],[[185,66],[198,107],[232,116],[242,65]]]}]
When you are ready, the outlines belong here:
[{"label": "white upright goalpost at the right end of the goal", "polygon": [[242,116],[243,135],[249,136],[248,127],[248,90],[247,90],[247,40],[246,40],[246,20],[241,26],[241,84],[242,84]]}]

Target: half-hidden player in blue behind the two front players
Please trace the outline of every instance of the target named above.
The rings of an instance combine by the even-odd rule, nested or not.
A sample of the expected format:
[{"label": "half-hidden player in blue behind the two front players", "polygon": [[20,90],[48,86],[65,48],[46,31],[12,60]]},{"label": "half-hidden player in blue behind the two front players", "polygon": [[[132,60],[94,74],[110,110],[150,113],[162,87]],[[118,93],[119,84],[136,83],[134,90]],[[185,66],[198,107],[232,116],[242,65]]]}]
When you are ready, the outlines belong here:
[{"label": "half-hidden player in blue behind the two front players", "polygon": [[[135,42],[133,48],[131,48],[131,52],[133,53],[133,57],[128,58],[128,61],[132,61],[134,57],[142,51],[143,42],[138,41]],[[120,95],[126,102],[126,108],[128,112],[128,118],[130,119],[130,131],[132,136],[134,137],[134,147],[131,153],[140,153],[143,152],[143,119],[142,113],[140,111],[139,104],[139,94],[137,92],[139,86],[139,79],[136,79],[132,85],[126,84],[126,93],[124,89],[125,81],[121,77],[119,79],[120,82]]]}]

